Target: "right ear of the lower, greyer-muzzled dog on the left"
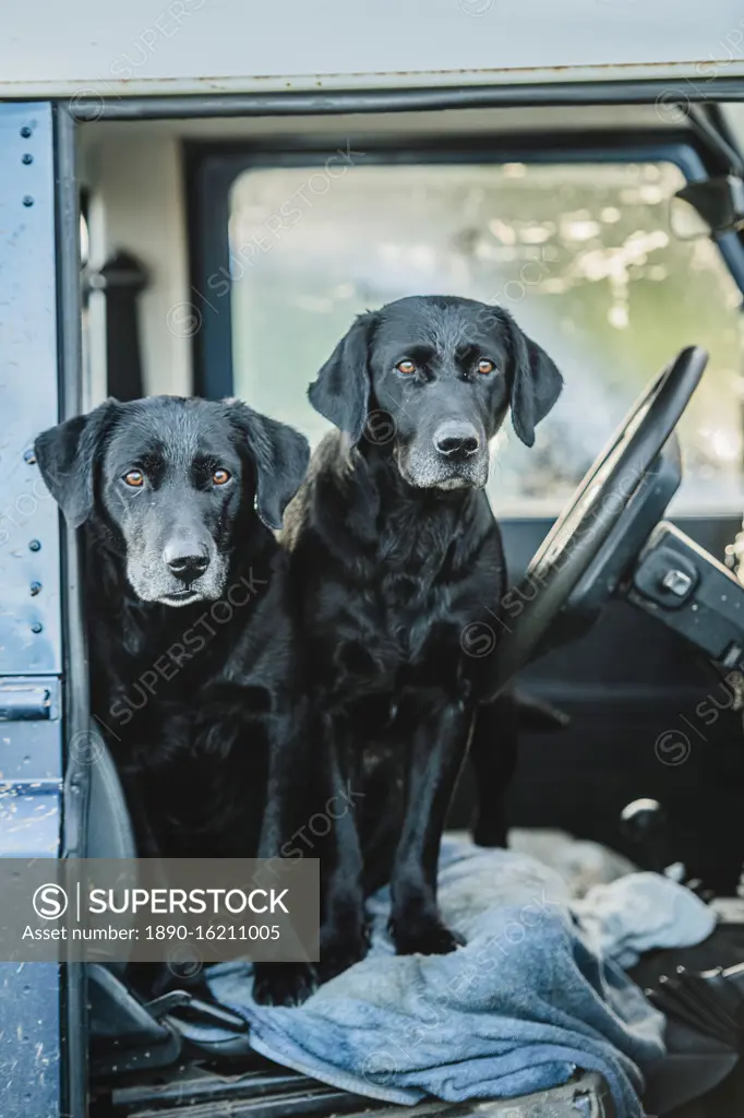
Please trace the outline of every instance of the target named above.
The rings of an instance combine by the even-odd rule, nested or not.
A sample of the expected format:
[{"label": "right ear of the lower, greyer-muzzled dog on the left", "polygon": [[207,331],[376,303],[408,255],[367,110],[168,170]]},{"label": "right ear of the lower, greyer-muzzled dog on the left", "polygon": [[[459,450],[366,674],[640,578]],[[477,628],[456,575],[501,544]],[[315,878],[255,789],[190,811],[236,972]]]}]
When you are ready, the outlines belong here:
[{"label": "right ear of the lower, greyer-muzzled dog on the left", "polygon": [[240,400],[230,400],[228,408],[256,471],[256,512],[267,528],[278,530],[307,472],[309,444],[294,427],[259,415]]}]

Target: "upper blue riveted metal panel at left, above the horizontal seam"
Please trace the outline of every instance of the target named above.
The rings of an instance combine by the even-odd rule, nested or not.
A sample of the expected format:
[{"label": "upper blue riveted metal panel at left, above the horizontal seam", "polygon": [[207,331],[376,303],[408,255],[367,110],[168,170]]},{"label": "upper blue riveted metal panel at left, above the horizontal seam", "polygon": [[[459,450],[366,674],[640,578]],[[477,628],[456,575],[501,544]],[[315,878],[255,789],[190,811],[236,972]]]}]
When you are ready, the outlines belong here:
[{"label": "upper blue riveted metal panel at left, above the horizontal seam", "polygon": [[57,506],[29,454],[57,423],[51,138],[49,105],[0,106],[0,676],[61,663]]}]

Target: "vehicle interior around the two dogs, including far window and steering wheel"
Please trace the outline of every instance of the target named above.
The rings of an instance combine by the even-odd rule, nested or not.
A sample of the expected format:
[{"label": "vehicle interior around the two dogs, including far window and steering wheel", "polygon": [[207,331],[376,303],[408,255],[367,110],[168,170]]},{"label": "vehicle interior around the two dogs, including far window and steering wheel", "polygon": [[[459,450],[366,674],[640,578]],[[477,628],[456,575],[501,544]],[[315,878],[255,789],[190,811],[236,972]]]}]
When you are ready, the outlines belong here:
[{"label": "vehicle interior around the two dogs, including far window and steering wheel", "polygon": [[[499,436],[488,483],[516,587],[503,685],[516,679],[566,716],[557,731],[525,728],[508,818],[642,869],[681,863],[719,906],[710,941],[639,964],[679,1034],[646,1105],[677,1118],[737,1112],[741,1026],[716,1030],[709,1007],[696,1016],[700,1003],[659,979],[679,965],[728,968],[706,996],[741,1021],[744,108],[117,121],[92,102],[84,117],[85,409],[106,395],[236,395],[316,445],[326,426],[305,389],[353,315],[435,292],[507,306],[561,368],[536,447]],[[680,198],[690,183],[697,193]],[[78,852],[134,856],[113,765],[104,757],[85,779]],[[469,826],[470,781],[452,831]],[[187,958],[150,1004],[124,966],[92,965],[87,982],[97,1118],[379,1107],[257,1057]],[[612,1112],[581,1069],[545,1093],[518,1110],[477,1107]]]}]

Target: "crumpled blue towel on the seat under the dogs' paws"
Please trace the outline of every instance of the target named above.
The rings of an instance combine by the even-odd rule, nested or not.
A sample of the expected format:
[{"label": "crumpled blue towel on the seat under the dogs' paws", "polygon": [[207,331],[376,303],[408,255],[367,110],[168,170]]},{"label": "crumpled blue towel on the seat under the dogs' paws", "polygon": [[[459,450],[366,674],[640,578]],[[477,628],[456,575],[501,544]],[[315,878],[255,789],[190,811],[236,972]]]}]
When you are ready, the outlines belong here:
[{"label": "crumpled blue towel on the seat under the dogs' paws", "polygon": [[[660,884],[661,932],[679,893],[705,909],[675,882],[639,877]],[[622,954],[632,912],[619,937],[599,934],[601,917],[588,937],[553,870],[521,853],[449,840],[439,903],[467,945],[451,955],[397,956],[385,930],[389,900],[382,890],[370,901],[366,959],[301,1007],[256,1005],[248,964],[211,970],[213,995],[249,1021],[256,1051],[326,1083],[402,1103],[426,1096],[514,1098],[563,1084],[581,1068],[604,1077],[619,1118],[640,1118],[642,1069],[664,1054],[664,1018],[612,958],[592,949],[602,946],[607,956],[614,944]],[[602,908],[617,917],[607,894]],[[700,938],[707,934],[704,921],[688,920],[690,934],[693,926]]]}]

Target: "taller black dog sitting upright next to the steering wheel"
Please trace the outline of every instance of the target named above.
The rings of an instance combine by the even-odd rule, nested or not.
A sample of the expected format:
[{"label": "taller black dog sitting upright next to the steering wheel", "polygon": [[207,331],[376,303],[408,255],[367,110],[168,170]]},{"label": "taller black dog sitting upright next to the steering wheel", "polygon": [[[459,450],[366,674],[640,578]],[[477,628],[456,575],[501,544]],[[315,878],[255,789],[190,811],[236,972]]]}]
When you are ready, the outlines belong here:
[{"label": "taller black dog sitting upright next to the steering wheel", "polygon": [[[314,758],[318,770],[325,758],[328,787],[382,779],[391,796],[391,765],[402,767],[390,878],[401,954],[457,944],[437,908],[437,860],[476,711],[493,693],[493,657],[468,655],[467,634],[478,624],[493,631],[487,610],[506,589],[483,492],[488,444],[511,407],[532,446],[561,386],[552,360],[505,311],[431,296],[357,319],[309,389],[340,428],[318,447],[286,517]],[[493,796],[514,762],[511,747],[499,752],[498,709],[480,705],[475,730],[474,760]],[[398,817],[392,802],[389,811]],[[350,818],[330,835],[326,976],[365,951],[361,849],[374,845],[369,816],[379,824],[379,809],[357,815],[361,842]],[[479,827],[481,841],[503,841],[498,819]]]}]

